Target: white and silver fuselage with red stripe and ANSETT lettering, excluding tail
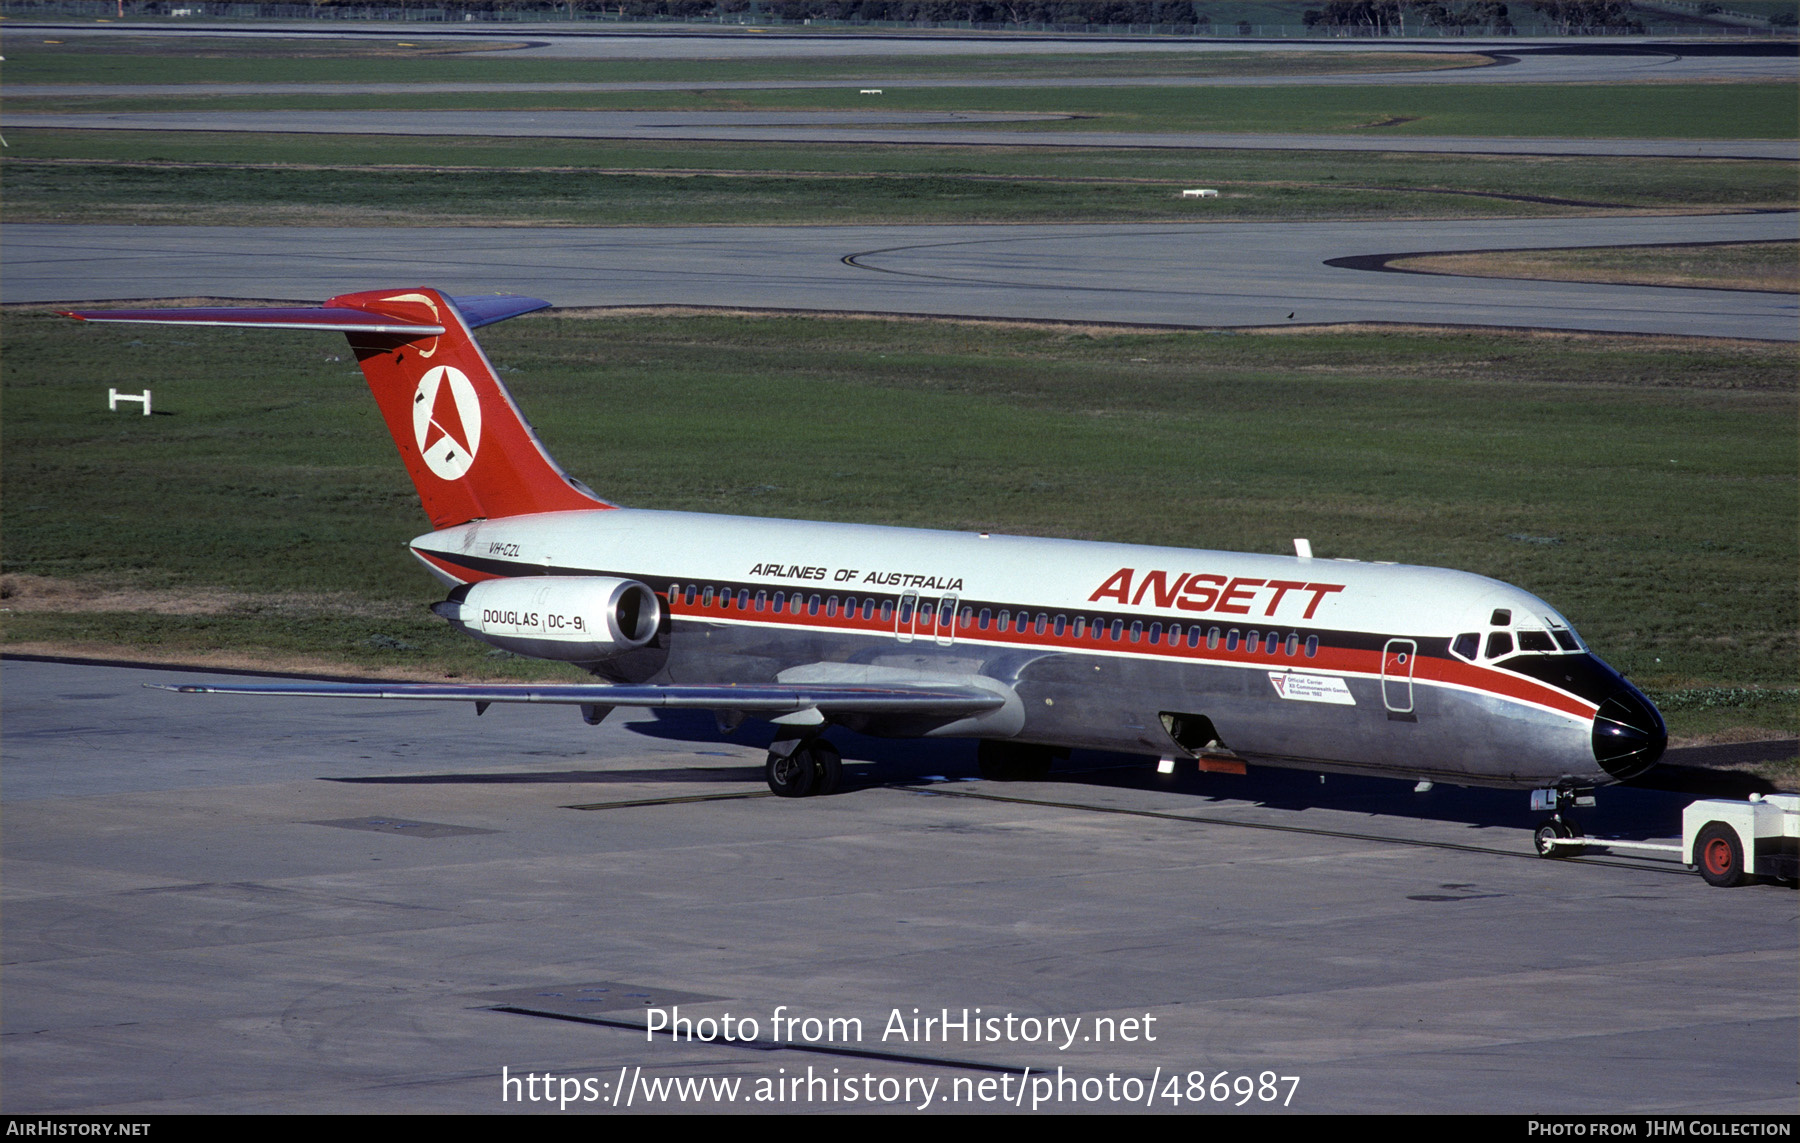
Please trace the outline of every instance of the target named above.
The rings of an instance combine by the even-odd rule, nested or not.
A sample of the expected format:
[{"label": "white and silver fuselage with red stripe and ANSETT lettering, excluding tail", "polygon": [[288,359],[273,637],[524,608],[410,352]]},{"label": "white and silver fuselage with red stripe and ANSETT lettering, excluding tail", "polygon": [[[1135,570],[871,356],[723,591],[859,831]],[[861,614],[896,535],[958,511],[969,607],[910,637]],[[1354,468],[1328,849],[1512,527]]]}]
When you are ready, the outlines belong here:
[{"label": "white and silver fuselage with red stripe and ANSETT lettering, excluding tail", "polygon": [[869,733],[1597,785],[1624,776],[1597,760],[1597,711],[1651,709],[1543,599],[1431,567],[641,509],[475,520],[412,549],[452,585],[648,585],[666,630],[625,675],[596,666],[621,680],[1017,695],[985,722]]}]

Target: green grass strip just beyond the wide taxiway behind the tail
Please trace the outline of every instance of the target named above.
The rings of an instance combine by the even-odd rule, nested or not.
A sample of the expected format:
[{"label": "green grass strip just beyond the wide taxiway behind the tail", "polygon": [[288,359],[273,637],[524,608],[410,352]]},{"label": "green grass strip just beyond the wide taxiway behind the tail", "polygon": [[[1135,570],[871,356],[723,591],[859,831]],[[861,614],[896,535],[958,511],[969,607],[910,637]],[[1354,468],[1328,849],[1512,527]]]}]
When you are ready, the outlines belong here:
[{"label": "green grass strip just beyond the wide taxiway behind the tail", "polygon": [[[1787,164],[9,131],[11,221],[747,225],[1791,209]],[[1181,200],[1210,185],[1217,200]]]}]

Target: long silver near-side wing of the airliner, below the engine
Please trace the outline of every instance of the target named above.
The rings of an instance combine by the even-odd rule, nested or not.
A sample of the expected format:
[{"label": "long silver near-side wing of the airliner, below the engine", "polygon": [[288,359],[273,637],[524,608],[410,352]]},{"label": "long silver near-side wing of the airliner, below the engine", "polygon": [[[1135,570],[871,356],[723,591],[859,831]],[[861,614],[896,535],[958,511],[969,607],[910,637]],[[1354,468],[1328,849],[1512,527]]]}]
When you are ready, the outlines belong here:
[{"label": "long silver near-side wing of the airliner, below the engine", "polygon": [[851,686],[851,684],[466,684],[466,682],[257,682],[146,684],[182,695],[275,695],[302,698],[425,698],[439,702],[551,702],[563,706],[688,707],[785,715],[979,715],[1006,698],[976,686]]}]

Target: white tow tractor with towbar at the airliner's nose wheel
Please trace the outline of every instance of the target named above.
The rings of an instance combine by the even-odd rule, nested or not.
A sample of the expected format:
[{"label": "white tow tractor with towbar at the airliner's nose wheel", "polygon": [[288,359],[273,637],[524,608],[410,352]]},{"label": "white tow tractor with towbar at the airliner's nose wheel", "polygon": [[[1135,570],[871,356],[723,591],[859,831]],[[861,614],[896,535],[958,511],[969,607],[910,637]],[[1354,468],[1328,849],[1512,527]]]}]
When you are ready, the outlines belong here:
[{"label": "white tow tractor with towbar at the airliner's nose wheel", "polygon": [[1750,801],[1705,799],[1681,810],[1681,844],[1579,837],[1544,823],[1535,844],[1543,857],[1573,857],[1588,848],[1670,853],[1696,866],[1708,886],[1742,886],[1757,877],[1800,880],[1800,794],[1751,794]]}]

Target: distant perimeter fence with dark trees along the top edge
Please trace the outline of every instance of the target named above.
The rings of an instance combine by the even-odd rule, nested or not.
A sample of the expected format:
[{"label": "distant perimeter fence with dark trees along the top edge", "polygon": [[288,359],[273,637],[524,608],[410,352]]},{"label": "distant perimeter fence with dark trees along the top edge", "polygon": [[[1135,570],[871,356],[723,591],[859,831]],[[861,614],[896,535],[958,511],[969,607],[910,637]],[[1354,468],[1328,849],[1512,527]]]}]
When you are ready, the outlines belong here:
[{"label": "distant perimeter fence with dark trees along the top edge", "polygon": [[[1690,7],[1667,4],[1667,9]],[[1692,5],[1699,7],[1699,5]],[[1523,5],[1521,5],[1523,9]],[[1534,13],[1521,11],[1519,18],[1508,25],[1485,27],[1406,27],[1406,29],[1370,29],[1370,27],[1312,27],[1301,23],[981,23],[974,20],[783,20],[767,13],[733,13],[713,16],[619,16],[565,5],[560,9],[500,9],[500,7],[394,7],[394,5],[349,5],[349,4],[207,4],[205,0],[0,0],[0,16],[14,18],[88,18],[88,20],[317,20],[349,23],[585,23],[585,25],[637,25],[637,27],[770,27],[770,29],[819,29],[819,31],[974,31],[974,32],[1039,32],[1039,34],[1087,34],[1087,36],[1159,36],[1181,40],[1463,40],[1463,38],[1499,38],[1499,36],[1642,36],[1642,34],[1681,34],[1681,36],[1791,36],[1786,27],[1753,27],[1744,23],[1723,25],[1696,20],[1656,18],[1654,9],[1634,7],[1638,29],[1564,29],[1555,23],[1539,23]]]}]

